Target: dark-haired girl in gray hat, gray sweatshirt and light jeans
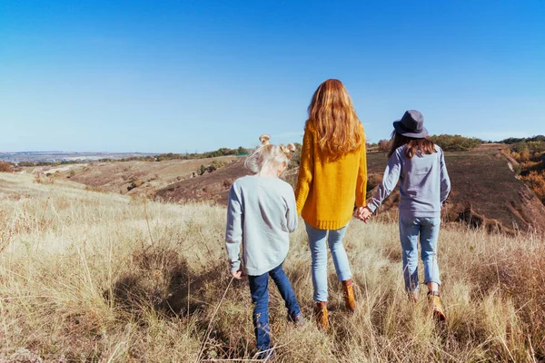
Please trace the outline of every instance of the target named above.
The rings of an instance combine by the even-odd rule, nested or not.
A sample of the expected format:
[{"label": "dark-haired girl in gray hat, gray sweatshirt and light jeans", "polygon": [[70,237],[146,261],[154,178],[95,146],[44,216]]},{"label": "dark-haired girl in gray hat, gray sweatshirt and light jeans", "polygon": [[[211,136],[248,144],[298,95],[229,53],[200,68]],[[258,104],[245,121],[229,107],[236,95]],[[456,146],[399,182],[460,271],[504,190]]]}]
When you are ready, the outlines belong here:
[{"label": "dark-haired girl in gray hat, gray sweatshirt and light jeans", "polygon": [[414,301],[418,300],[418,237],[420,234],[421,260],[424,265],[424,283],[433,316],[444,321],[445,313],[439,295],[439,267],[437,238],[441,224],[441,209],[451,191],[445,158],[441,148],[427,139],[421,113],[409,110],[401,120],[393,123],[393,142],[390,161],[384,177],[371,201],[356,217],[367,221],[381,206],[400,181],[401,201],[400,240],[405,289]]}]

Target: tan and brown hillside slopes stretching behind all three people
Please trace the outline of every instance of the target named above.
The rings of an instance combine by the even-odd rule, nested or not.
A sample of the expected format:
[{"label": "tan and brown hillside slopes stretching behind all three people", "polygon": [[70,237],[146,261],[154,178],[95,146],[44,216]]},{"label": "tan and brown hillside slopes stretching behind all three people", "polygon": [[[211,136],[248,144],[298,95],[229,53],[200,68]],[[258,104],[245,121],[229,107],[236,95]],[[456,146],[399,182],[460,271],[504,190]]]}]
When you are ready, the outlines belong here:
[{"label": "tan and brown hillside slopes stretching behind all three people", "polygon": [[[468,152],[446,152],[452,182],[449,204],[443,212],[446,221],[465,221],[471,226],[511,234],[517,230],[545,231],[545,207],[520,181],[516,162],[500,152],[505,147],[505,144],[488,143]],[[381,181],[386,162],[385,153],[368,154],[370,195]],[[207,172],[212,165],[220,168]],[[243,158],[235,156],[163,162],[94,162],[28,170],[60,174],[96,191],[146,195],[156,201],[174,203],[213,201],[220,204],[226,203],[234,180],[249,174],[243,167]],[[286,172],[284,179],[294,186],[297,172],[297,168]],[[199,175],[201,173],[203,175]],[[390,211],[398,202],[399,191],[394,191],[380,212]]]}]

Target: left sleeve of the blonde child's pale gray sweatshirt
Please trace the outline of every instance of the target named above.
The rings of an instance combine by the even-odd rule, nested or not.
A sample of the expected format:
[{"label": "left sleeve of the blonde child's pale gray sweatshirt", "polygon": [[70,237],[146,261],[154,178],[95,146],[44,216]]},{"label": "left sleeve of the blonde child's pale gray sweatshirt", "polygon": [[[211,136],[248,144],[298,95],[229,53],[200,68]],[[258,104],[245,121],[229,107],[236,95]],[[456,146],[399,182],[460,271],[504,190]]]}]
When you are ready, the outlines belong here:
[{"label": "left sleeve of the blonde child's pale gray sweatshirt", "polygon": [[225,228],[225,249],[231,272],[241,268],[240,250],[243,241],[243,209],[234,184],[229,191],[227,204],[227,226]]}]

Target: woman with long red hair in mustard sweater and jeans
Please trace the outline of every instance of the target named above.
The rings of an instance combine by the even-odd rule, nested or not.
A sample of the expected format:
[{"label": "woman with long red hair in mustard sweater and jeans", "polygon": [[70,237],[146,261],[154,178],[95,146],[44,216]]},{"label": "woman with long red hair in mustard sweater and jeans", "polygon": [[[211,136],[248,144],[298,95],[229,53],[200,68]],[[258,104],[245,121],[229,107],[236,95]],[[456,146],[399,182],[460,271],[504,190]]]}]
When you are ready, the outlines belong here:
[{"label": "woman with long red hair in mustard sweater and jeans", "polygon": [[312,254],[312,285],[319,328],[329,326],[327,314],[327,247],[345,306],[356,309],[352,272],[342,238],[354,204],[365,205],[367,164],[365,133],[341,81],[329,79],[312,95],[302,141],[299,178],[295,188]]}]

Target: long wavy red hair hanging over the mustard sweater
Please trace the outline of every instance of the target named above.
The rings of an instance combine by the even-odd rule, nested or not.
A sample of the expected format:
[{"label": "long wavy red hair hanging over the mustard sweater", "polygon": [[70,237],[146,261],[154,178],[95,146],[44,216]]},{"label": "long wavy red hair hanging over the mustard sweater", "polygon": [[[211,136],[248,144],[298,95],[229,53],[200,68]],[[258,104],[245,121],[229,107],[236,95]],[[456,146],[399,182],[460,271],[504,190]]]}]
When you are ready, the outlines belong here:
[{"label": "long wavy red hair hanging over the mustard sweater", "polygon": [[322,151],[341,156],[358,149],[365,139],[352,99],[341,81],[328,79],[312,95],[307,123],[314,123]]}]

